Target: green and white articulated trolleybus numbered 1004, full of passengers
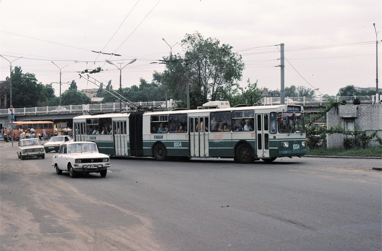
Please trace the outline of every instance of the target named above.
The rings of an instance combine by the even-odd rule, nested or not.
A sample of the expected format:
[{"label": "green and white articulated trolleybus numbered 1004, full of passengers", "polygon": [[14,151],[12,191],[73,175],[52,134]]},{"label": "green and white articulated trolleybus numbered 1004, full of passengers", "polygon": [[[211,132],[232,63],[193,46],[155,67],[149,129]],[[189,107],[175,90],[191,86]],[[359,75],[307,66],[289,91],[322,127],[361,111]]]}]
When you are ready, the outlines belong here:
[{"label": "green and white articulated trolleybus numbered 1004, full of passengers", "polygon": [[[231,108],[213,101],[196,110],[134,111],[73,119],[74,140],[95,142],[110,156],[234,158],[240,163],[306,154],[298,105]],[[212,108],[213,107],[213,108]]]}]

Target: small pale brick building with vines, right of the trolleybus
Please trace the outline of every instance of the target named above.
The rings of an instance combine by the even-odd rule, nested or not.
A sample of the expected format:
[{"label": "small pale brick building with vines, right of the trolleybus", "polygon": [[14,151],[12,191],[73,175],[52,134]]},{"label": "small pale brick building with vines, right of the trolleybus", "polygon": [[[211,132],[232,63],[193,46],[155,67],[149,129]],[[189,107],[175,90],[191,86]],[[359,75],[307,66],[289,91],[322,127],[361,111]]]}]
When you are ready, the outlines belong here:
[{"label": "small pale brick building with vines, right of the trolleybus", "polygon": [[[346,130],[381,130],[382,129],[382,104],[339,105],[326,113],[327,128],[341,125]],[[379,137],[382,133],[379,133]],[[343,134],[327,136],[327,147],[342,146]],[[376,142],[370,142],[377,145]]]}]

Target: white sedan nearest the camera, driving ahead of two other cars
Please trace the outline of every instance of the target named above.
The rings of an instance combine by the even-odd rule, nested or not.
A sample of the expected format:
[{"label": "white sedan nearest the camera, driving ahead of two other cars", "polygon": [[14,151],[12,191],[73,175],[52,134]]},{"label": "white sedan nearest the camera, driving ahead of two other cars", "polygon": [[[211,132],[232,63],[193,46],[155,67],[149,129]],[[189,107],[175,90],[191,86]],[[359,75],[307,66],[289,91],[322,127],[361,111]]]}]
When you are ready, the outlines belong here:
[{"label": "white sedan nearest the camera, driving ahead of two other cars", "polygon": [[101,177],[105,177],[110,164],[109,156],[99,153],[95,143],[80,141],[63,143],[58,154],[52,157],[52,166],[57,174],[67,171],[71,178],[90,172],[99,172]]}]

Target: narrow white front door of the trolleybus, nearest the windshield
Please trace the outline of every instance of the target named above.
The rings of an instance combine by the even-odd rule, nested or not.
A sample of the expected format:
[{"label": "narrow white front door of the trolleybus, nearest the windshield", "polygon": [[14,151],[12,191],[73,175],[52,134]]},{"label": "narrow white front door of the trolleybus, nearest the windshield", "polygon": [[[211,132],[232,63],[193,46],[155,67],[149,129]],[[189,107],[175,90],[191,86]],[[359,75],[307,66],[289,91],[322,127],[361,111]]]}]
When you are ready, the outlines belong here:
[{"label": "narrow white front door of the trolleybus, nearest the windshield", "polygon": [[256,114],[257,157],[269,158],[269,114]]}]

